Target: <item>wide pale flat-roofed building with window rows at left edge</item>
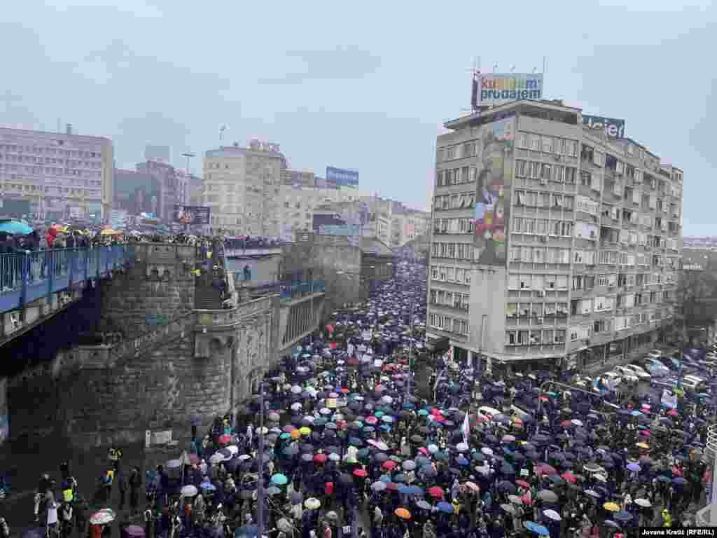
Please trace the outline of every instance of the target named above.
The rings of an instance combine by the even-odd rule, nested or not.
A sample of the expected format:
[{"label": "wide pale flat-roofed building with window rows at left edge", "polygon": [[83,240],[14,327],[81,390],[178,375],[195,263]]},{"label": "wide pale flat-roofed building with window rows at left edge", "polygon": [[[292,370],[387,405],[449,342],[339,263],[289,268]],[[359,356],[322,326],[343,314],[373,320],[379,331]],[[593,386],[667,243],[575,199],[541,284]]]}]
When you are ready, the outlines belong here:
[{"label": "wide pale flat-roofed building with window rows at left edge", "polygon": [[113,172],[109,138],[0,128],[0,199],[27,202],[29,219],[107,222]]}]

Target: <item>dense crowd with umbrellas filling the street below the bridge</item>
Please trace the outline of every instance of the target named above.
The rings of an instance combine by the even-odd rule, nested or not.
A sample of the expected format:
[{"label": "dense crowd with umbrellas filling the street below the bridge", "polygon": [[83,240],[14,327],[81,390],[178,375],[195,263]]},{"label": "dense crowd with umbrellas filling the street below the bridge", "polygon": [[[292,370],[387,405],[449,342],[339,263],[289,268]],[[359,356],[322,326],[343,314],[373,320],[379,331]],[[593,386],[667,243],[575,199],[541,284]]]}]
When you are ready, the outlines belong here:
[{"label": "dense crowd with umbrellas filling the street below the bridge", "polygon": [[[476,376],[433,357],[424,271],[402,263],[333,313],[246,409],[193,427],[176,459],[141,476],[115,450],[95,501],[116,483],[121,510],[129,491],[128,537],[252,537],[260,511],[280,538],[620,538],[694,524],[712,483],[712,410],[688,393],[665,407],[650,392],[546,392],[546,372]],[[87,517],[67,468],[59,488],[42,478],[36,506],[64,537],[98,538],[115,519],[108,505]]]}]

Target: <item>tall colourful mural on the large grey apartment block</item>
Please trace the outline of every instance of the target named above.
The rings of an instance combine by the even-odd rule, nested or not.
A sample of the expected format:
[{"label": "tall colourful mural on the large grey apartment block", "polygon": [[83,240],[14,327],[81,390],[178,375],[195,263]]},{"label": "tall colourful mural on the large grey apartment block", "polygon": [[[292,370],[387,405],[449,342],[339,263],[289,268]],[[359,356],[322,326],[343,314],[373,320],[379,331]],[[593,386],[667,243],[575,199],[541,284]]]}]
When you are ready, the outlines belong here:
[{"label": "tall colourful mural on the large grey apartment block", "polygon": [[473,218],[474,260],[482,265],[505,263],[515,136],[514,115],[481,128],[478,195]]}]

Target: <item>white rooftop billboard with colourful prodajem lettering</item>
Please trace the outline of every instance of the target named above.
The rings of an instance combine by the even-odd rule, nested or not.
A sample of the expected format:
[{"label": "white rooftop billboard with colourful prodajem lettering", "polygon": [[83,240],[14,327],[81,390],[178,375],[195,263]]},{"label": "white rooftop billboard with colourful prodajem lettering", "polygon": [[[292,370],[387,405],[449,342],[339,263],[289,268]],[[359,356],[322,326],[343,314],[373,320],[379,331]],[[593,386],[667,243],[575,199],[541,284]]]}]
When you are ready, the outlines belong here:
[{"label": "white rooftop billboard with colourful prodajem lettering", "polygon": [[478,106],[543,98],[543,73],[482,73],[473,82]]}]

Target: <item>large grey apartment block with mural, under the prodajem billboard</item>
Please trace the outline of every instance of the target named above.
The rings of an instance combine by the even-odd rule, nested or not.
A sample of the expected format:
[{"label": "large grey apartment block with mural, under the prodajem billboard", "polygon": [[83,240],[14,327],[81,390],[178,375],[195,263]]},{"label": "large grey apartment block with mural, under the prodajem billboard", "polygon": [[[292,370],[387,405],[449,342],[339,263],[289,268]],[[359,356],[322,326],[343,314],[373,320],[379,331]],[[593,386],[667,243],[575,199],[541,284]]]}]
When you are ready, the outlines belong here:
[{"label": "large grey apartment block with mural, under the prodajem billboard", "polygon": [[569,370],[641,353],[667,332],[683,171],[583,126],[581,110],[559,101],[507,103],[445,127],[430,339],[488,368]]}]

